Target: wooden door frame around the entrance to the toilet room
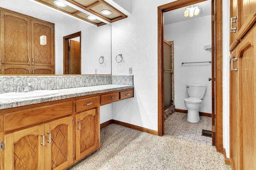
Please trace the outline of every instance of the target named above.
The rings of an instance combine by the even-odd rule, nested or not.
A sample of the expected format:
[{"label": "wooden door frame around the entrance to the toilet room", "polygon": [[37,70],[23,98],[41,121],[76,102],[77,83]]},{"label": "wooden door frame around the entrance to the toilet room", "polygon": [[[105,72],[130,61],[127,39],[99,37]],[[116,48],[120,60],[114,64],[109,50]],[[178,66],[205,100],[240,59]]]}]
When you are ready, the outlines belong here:
[{"label": "wooden door frame around the entrance to the toilet room", "polygon": [[[158,6],[158,135],[164,134],[164,90],[163,90],[163,43],[164,43],[164,12],[190,6],[205,0],[177,0]],[[212,0],[214,1],[214,0]],[[214,3],[214,2],[213,2]],[[223,153],[223,125],[222,125],[222,0],[215,1],[215,77],[212,77],[212,84],[215,86],[215,146],[218,152]],[[212,45],[214,51],[214,45]],[[214,75],[212,73],[212,75]],[[214,81],[215,80],[215,81]],[[214,89],[214,86],[212,89]],[[213,106],[214,107],[214,106]],[[214,113],[214,112],[213,112]]]}]

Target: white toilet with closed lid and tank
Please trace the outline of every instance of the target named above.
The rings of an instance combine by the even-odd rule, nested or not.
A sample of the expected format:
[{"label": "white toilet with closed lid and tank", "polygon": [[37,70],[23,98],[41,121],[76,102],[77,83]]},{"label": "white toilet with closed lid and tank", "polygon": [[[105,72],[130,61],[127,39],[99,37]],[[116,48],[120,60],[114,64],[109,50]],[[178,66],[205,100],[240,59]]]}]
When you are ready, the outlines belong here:
[{"label": "white toilet with closed lid and tank", "polygon": [[200,120],[199,109],[206,91],[205,84],[186,84],[189,98],[184,99],[185,106],[188,108],[187,121],[196,123]]}]

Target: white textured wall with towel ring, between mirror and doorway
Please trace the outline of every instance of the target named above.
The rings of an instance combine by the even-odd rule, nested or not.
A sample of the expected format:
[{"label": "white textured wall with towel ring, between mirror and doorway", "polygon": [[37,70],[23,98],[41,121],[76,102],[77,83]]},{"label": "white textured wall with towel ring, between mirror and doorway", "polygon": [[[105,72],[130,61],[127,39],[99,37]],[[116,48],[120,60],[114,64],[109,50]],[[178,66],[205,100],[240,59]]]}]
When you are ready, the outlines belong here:
[{"label": "white textured wall with towel ring, between mirror and doorway", "polygon": [[158,130],[157,7],[171,1],[131,0],[132,15],[112,23],[112,74],[134,75],[134,98],[112,104],[115,120]]}]

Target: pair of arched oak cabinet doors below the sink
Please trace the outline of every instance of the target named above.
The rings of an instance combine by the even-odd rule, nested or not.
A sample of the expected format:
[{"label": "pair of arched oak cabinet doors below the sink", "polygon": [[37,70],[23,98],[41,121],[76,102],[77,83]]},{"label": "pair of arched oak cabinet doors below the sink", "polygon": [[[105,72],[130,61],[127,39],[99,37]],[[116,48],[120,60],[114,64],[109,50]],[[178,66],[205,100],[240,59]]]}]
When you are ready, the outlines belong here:
[{"label": "pair of arched oak cabinet doors below the sink", "polygon": [[4,135],[4,170],[53,170],[73,164],[73,117]]}]

